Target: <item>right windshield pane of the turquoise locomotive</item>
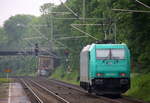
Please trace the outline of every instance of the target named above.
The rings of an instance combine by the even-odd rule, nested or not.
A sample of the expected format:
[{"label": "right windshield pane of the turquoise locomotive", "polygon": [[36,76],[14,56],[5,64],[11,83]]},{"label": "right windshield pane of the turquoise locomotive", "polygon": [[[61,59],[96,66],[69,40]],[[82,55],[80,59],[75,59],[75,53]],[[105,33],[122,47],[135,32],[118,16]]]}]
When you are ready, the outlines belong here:
[{"label": "right windshield pane of the turquoise locomotive", "polygon": [[111,59],[124,59],[125,51],[124,49],[111,49]]}]

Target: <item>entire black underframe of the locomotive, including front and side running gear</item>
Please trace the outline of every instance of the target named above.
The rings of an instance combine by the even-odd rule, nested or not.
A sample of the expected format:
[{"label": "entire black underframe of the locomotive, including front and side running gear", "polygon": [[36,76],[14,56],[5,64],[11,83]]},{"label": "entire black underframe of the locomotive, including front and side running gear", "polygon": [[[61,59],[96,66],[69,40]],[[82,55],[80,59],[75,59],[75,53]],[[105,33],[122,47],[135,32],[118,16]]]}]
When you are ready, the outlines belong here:
[{"label": "entire black underframe of the locomotive, including front and side running gear", "polygon": [[95,78],[92,84],[80,82],[80,86],[88,92],[97,94],[121,94],[130,88],[129,78]]}]

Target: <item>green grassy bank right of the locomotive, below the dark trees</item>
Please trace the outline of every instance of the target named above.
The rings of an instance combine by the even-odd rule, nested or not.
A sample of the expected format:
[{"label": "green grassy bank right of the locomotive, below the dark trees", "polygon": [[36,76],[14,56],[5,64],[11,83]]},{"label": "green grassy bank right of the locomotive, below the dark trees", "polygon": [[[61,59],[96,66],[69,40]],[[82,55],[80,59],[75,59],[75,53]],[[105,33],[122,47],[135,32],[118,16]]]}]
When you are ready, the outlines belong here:
[{"label": "green grassy bank right of the locomotive, below the dark trees", "polygon": [[150,102],[150,73],[133,74],[131,88],[125,95]]}]

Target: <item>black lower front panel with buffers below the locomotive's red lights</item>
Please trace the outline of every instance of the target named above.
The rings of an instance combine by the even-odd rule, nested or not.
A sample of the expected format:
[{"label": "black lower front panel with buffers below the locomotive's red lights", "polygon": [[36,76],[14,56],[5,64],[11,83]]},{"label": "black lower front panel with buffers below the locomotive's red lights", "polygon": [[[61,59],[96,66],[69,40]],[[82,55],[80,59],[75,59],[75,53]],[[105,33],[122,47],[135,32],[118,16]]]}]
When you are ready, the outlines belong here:
[{"label": "black lower front panel with buffers below the locomotive's red lights", "polygon": [[122,92],[130,88],[129,78],[97,78],[92,80],[92,87],[98,91]]}]

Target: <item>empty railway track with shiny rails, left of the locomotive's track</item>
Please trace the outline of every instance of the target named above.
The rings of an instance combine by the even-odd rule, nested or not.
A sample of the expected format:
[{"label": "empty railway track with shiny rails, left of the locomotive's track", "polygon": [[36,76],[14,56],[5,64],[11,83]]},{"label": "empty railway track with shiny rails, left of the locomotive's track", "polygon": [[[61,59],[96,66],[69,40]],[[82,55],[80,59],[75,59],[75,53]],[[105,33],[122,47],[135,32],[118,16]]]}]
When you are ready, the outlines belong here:
[{"label": "empty railway track with shiny rails, left of the locomotive's track", "polygon": [[21,79],[21,83],[27,89],[26,92],[31,93],[28,96],[32,103],[70,103],[31,79]]}]

